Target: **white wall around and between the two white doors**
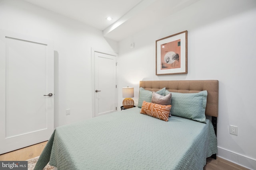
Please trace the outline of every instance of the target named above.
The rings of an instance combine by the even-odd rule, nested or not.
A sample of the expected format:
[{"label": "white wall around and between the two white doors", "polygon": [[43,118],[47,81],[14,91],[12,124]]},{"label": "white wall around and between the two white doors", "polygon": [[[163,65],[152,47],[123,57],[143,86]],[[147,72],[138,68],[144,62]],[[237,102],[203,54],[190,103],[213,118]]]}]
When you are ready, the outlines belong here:
[{"label": "white wall around and between the two white doors", "polygon": [[0,1],[0,29],[54,41],[55,127],[92,117],[91,48],[117,52],[116,42],[104,39],[100,30],[20,0]]}]

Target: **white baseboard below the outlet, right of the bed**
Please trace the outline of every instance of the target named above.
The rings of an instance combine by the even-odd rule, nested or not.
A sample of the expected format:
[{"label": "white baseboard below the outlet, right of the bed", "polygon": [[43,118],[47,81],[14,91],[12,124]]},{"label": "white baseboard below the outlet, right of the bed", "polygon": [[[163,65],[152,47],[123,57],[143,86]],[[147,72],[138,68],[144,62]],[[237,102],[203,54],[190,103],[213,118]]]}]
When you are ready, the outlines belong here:
[{"label": "white baseboard below the outlet, right of the bed", "polygon": [[217,156],[240,166],[244,166],[250,170],[256,170],[256,160],[249,158],[248,156],[244,156],[221,147],[218,147]]}]

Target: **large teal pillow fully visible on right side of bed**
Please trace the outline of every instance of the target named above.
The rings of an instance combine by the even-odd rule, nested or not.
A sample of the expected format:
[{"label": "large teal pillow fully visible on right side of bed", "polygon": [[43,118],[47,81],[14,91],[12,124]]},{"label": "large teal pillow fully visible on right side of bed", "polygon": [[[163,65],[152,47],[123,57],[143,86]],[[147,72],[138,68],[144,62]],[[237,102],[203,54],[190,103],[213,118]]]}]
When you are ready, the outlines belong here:
[{"label": "large teal pillow fully visible on right side of bed", "polygon": [[207,91],[198,93],[172,93],[171,115],[185,117],[202,123],[206,123],[205,108]]}]

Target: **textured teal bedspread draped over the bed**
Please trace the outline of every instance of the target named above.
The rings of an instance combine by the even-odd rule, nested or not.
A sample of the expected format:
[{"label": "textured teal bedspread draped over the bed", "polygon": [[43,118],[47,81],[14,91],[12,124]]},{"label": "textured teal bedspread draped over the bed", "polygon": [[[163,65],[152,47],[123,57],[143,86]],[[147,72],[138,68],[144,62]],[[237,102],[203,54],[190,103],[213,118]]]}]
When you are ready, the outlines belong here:
[{"label": "textured teal bedspread draped over the bed", "polygon": [[57,127],[35,170],[49,161],[58,170],[202,170],[216,152],[208,119],[165,122],[134,107]]}]

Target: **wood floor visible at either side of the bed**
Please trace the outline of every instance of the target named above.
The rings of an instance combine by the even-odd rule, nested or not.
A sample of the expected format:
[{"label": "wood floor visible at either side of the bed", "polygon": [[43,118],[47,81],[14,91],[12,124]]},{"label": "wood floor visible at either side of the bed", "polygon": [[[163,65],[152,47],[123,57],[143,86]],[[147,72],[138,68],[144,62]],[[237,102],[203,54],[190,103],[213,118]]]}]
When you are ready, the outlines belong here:
[{"label": "wood floor visible at either side of the bed", "polygon": [[[32,145],[30,147],[22,148],[19,150],[14,150],[12,152],[8,152],[6,154],[0,155],[0,160],[9,160],[9,161],[18,161],[18,160],[28,160],[39,156],[44,149],[46,142],[38,143],[36,145]],[[248,170],[242,166],[219,158],[207,158],[206,166],[204,166],[204,170]]]}]

